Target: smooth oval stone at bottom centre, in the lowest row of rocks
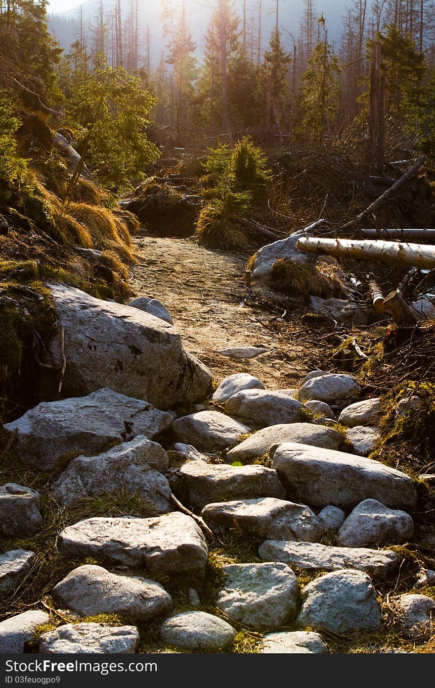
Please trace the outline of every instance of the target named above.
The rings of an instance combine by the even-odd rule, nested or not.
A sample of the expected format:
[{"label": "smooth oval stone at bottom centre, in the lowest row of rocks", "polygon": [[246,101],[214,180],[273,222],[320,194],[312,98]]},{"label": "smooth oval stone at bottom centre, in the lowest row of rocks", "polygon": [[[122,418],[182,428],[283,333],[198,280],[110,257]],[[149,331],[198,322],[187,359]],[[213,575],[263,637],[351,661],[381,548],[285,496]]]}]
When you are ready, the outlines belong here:
[{"label": "smooth oval stone at bottom centre, in the lowest row of rocks", "polygon": [[181,649],[221,649],[234,641],[234,628],[206,612],[181,612],[166,619],[160,629],[164,643]]}]

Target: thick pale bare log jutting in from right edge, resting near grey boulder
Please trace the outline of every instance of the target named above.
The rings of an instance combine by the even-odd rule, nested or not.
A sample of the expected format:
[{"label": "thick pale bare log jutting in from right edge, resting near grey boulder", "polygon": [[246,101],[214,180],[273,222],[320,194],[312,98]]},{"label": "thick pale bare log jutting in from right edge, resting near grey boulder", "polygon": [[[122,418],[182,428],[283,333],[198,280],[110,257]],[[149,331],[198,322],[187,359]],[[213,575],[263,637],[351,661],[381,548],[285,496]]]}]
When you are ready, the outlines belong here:
[{"label": "thick pale bare log jutting in from right edge, resting near grey boulder", "polygon": [[416,268],[435,268],[435,246],[405,244],[403,241],[355,241],[301,237],[296,244],[303,253],[320,253],[355,260],[379,261]]}]

